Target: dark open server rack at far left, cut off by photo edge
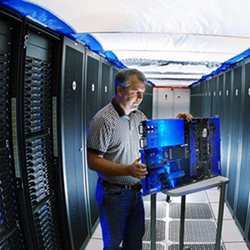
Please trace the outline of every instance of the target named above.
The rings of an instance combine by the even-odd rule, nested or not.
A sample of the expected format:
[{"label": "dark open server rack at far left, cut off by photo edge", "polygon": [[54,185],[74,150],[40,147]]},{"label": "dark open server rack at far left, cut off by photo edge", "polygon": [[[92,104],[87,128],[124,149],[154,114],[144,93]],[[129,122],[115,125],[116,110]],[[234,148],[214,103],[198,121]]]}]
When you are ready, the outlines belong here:
[{"label": "dark open server rack at far left, cut off by photo edge", "polygon": [[0,249],[25,250],[12,147],[11,94],[15,24],[0,13]]}]

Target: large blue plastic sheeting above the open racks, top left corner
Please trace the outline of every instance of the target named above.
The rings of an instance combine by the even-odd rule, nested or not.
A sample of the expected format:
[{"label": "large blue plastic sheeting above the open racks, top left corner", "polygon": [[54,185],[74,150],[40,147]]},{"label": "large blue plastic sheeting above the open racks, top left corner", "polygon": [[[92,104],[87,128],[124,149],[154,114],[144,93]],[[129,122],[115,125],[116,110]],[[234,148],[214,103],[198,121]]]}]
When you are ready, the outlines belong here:
[{"label": "large blue plastic sheeting above the open racks, top left corner", "polygon": [[0,6],[11,9],[45,27],[72,38],[75,30],[50,11],[28,1],[0,0]]}]

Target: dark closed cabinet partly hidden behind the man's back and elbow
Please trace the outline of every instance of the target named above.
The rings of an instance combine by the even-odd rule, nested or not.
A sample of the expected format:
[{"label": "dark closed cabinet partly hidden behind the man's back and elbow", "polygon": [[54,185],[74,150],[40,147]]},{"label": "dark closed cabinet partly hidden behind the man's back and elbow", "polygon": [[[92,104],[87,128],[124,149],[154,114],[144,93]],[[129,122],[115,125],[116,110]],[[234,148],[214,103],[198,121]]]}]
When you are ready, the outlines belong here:
[{"label": "dark closed cabinet partly hidden behind the man's back and elbow", "polygon": [[[91,118],[101,108],[101,71],[100,71],[100,56],[88,51],[86,53],[86,128],[89,126]],[[97,174],[95,171],[88,168],[88,193],[90,206],[90,224],[91,231],[94,230],[98,220],[98,207],[95,200],[95,189],[97,183]]]}]

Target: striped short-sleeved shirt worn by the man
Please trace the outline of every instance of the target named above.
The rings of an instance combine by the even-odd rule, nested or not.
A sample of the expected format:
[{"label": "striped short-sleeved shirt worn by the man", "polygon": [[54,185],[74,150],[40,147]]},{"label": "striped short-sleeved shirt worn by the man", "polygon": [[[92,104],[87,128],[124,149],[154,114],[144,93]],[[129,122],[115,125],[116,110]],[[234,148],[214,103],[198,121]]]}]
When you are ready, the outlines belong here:
[{"label": "striped short-sleeved shirt worn by the man", "polygon": [[[125,115],[115,99],[99,110],[88,129],[87,148],[103,155],[107,160],[128,165],[139,158],[139,124],[147,119],[136,110]],[[99,176],[109,182],[135,184],[139,179],[132,176]]]}]

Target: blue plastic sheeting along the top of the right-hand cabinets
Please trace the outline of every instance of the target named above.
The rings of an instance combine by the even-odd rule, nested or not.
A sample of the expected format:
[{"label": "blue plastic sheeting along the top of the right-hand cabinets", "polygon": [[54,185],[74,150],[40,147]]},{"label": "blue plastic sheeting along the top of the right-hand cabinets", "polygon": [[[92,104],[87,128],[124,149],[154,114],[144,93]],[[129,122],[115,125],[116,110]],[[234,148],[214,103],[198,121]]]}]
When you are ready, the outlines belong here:
[{"label": "blue plastic sheeting along the top of the right-hand cabinets", "polygon": [[222,63],[221,66],[219,68],[217,68],[216,70],[214,70],[212,73],[205,75],[205,76],[202,76],[200,80],[194,82],[191,86],[198,84],[199,82],[205,81],[208,78],[216,76],[223,71],[227,71],[228,69],[232,68],[236,63],[238,63],[246,58],[249,58],[249,57],[250,57],[250,49],[247,49],[247,50],[243,51],[242,53],[240,53],[239,55],[234,56],[233,58],[229,59],[228,61]]}]

